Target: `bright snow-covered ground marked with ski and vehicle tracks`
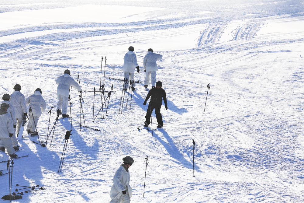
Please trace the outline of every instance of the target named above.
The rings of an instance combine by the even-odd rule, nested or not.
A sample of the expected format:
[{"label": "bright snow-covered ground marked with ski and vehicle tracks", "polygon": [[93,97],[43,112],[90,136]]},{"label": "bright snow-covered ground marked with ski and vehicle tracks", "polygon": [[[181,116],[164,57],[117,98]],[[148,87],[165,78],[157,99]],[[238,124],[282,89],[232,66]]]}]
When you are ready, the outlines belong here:
[{"label": "bright snow-covered ground marked with ski and vehicle tracks", "polygon": [[[18,83],[25,97],[41,88],[47,102],[39,139],[26,135],[19,142],[24,149],[18,156],[29,156],[14,160],[12,177],[12,191],[22,188],[16,184],[46,189],[13,202],[108,202],[124,156],[135,159],[132,202],[304,201],[303,0],[0,4],[0,95]],[[125,95],[119,112],[123,82],[109,77],[123,79],[129,46],[140,82],[148,48],[163,55],[157,62],[168,99],[168,110],[161,108],[163,129],[156,129],[155,114],[154,131],[143,129],[143,83],[136,83],[131,106]],[[83,114],[73,88],[72,118],[54,125],[55,79],[65,69],[75,80],[79,75]],[[113,85],[109,99],[108,93],[94,96],[100,84],[105,91]],[[0,159],[8,155],[0,153]],[[2,197],[9,194],[8,174],[0,182]]]}]

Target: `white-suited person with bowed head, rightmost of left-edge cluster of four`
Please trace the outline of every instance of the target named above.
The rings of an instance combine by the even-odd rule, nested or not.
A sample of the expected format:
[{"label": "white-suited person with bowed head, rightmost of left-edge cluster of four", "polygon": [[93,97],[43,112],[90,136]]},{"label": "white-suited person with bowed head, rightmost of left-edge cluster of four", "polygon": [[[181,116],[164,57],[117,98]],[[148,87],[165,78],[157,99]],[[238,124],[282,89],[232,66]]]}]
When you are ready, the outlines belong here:
[{"label": "white-suited person with bowed head, rightmost of left-edge cluster of four", "polygon": [[[42,91],[40,88],[37,88],[34,91],[34,94],[26,98],[26,104],[31,107],[32,112],[29,112],[29,122],[27,124],[27,133],[31,135],[38,135],[36,132],[36,126],[38,124],[39,117],[41,113],[47,108],[47,104],[42,97]],[[33,115],[31,115],[31,113]]]}]

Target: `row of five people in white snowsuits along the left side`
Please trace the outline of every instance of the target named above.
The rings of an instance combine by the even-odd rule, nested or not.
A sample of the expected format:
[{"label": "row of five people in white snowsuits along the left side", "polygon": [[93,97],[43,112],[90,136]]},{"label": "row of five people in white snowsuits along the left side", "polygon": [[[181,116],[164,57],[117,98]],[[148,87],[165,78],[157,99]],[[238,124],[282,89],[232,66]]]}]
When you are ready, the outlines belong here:
[{"label": "row of five people in white snowsuits along the left side", "polygon": [[[58,85],[57,114],[62,114],[62,117],[69,117],[67,114],[67,102],[70,86],[73,86],[81,93],[80,86],[70,75],[71,72],[65,70],[64,75],[56,79],[56,84]],[[5,152],[6,149],[11,158],[18,157],[15,152],[19,150],[17,137],[21,129],[22,119],[28,118],[27,133],[32,136],[38,135],[36,131],[38,120],[42,112],[47,108],[40,88],[35,89],[34,94],[26,99],[20,91],[21,85],[16,84],[11,95],[5,93],[2,96],[3,101],[0,106],[0,150]]]}]

